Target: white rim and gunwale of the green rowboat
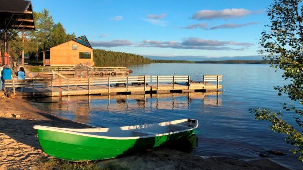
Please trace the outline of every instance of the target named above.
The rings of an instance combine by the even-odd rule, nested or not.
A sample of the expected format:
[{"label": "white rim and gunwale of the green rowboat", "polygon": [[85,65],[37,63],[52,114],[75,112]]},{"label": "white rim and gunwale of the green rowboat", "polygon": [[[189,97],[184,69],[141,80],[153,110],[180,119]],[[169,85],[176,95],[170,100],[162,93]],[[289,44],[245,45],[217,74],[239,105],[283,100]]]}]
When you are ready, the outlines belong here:
[{"label": "white rim and gunwale of the green rowboat", "polygon": [[[156,133],[156,134],[150,134],[150,135],[144,135],[144,136],[130,136],[130,137],[113,137],[113,136],[88,134],[88,133],[108,132],[110,129],[118,129],[118,128],[120,128],[121,131],[130,130],[132,132],[149,133],[148,131],[141,131],[141,130],[145,130],[145,129],[148,130],[148,127],[153,127],[153,126],[158,126],[159,128],[163,128],[163,126],[169,126],[169,125],[182,126],[182,125],[178,125],[178,124],[187,122],[188,120],[195,121],[193,127],[184,126],[184,127],[187,127],[187,129],[177,130],[177,131],[172,131],[172,132],[167,132],[167,133]],[[88,137],[94,137],[94,138],[119,139],[119,140],[141,139],[141,138],[149,138],[149,137],[156,137],[156,136],[165,136],[165,135],[171,135],[171,134],[191,131],[193,129],[196,129],[197,127],[198,127],[198,121],[195,119],[180,119],[180,120],[174,120],[174,121],[169,121],[169,122],[143,124],[143,125],[135,125],[135,126],[112,127],[112,128],[70,129],[70,128],[58,128],[58,127],[41,126],[41,125],[33,126],[33,128],[37,129],[37,130],[48,130],[48,131],[62,132],[62,133],[75,134],[75,135],[80,135],[80,136],[88,136]]]}]

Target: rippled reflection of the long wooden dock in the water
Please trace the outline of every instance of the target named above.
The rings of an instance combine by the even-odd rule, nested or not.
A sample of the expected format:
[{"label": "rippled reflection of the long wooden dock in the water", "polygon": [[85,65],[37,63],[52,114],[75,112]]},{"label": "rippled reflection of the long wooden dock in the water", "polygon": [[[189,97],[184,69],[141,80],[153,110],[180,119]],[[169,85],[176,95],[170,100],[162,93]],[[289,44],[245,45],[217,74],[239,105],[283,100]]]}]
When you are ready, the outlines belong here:
[{"label": "rippled reflection of the long wooden dock in the water", "polygon": [[[189,110],[193,103],[205,106],[221,107],[222,92],[195,92],[195,93],[170,93],[170,94],[133,94],[113,96],[71,96],[37,99],[34,102],[37,107],[46,111],[60,114],[61,116],[73,116],[73,120],[88,123],[90,116],[97,113],[134,113],[142,109],[144,113],[152,113],[155,110]],[[69,115],[69,116],[68,116]],[[117,121],[118,118],[117,118]],[[97,125],[96,125],[97,126]]]}]

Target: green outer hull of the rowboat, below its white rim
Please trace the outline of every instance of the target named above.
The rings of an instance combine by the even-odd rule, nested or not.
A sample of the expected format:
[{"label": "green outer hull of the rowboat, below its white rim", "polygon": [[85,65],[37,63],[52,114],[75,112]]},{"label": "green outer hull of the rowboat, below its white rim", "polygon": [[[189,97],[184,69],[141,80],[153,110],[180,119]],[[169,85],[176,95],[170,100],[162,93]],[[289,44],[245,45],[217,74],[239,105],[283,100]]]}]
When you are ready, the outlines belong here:
[{"label": "green outer hull of the rowboat, below its white rim", "polygon": [[39,130],[39,144],[48,155],[73,161],[109,159],[122,154],[154,148],[191,136],[193,130],[138,139],[106,139],[50,130]]}]

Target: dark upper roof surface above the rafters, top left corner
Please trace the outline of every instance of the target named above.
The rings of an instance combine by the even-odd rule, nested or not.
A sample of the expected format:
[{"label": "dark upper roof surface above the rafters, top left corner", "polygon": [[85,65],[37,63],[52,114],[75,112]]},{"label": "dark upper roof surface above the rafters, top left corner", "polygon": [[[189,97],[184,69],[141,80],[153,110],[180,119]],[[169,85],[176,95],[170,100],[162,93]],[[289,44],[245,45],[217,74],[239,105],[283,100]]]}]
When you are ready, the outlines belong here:
[{"label": "dark upper roof surface above the rafters, top left corner", "polygon": [[0,12],[24,14],[31,5],[31,2],[24,0],[0,0],[0,4]]}]

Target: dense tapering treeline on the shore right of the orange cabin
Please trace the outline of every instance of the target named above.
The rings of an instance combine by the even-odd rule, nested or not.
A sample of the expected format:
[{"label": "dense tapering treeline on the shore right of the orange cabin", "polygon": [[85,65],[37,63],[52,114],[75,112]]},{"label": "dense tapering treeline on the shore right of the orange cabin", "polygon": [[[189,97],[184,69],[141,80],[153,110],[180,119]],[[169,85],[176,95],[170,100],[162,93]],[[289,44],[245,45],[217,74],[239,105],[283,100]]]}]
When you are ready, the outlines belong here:
[{"label": "dense tapering treeline on the shore right of the orange cabin", "polygon": [[93,61],[95,65],[103,64],[148,64],[149,58],[145,58],[141,55],[130,54],[125,52],[106,51],[102,49],[93,50]]}]

